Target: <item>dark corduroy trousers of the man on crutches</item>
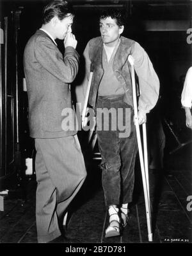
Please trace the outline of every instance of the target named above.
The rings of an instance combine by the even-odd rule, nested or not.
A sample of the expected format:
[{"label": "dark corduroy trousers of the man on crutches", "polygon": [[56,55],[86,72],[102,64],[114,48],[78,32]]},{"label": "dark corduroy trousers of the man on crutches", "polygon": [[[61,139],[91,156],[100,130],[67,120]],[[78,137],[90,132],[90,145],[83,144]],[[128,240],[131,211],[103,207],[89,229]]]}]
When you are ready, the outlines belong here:
[{"label": "dark corduroy trousers of the man on crutches", "polygon": [[[134,188],[134,163],[137,152],[136,129],[133,123],[133,111],[124,102],[124,95],[108,98],[100,96],[97,100],[97,139],[99,151],[102,157],[100,167],[102,169],[102,187],[106,206],[121,205],[132,201]],[[128,108],[127,114],[125,109]],[[99,111],[103,109],[114,109],[116,123],[129,121],[130,134],[124,138],[120,137],[118,125],[109,115],[109,130],[105,131],[106,120],[99,120]],[[122,109],[123,114],[119,114]],[[118,112],[119,111],[119,112]],[[99,125],[98,125],[99,124]],[[113,127],[113,129],[111,129]],[[99,131],[100,130],[100,131]]]}]

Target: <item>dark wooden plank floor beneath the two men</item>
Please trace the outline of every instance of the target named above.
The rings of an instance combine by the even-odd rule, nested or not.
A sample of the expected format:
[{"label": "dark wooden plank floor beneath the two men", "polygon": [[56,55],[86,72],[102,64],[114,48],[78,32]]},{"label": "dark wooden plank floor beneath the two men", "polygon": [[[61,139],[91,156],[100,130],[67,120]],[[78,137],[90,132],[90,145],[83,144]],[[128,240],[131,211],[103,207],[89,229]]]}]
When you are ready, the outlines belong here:
[{"label": "dark wooden plank floor beneath the two men", "polygon": [[[186,146],[169,156],[164,172],[149,170],[154,243],[192,242],[192,203],[188,201],[192,197],[191,160],[191,150]],[[129,224],[122,236],[104,237],[108,216],[98,163],[90,164],[88,178],[71,205],[66,243],[147,243],[145,201],[137,168]],[[0,212],[1,243],[37,242],[35,190],[35,176],[26,177],[4,197],[4,211]]]}]

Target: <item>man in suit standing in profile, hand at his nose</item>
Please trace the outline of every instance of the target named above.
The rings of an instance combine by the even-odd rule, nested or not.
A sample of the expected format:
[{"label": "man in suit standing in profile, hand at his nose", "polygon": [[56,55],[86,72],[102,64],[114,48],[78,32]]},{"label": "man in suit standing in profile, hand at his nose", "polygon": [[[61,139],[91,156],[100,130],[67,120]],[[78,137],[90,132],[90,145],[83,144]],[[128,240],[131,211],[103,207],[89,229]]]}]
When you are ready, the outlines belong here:
[{"label": "man in suit standing in profile, hand at his nose", "polygon": [[[66,1],[52,1],[44,8],[42,27],[24,50],[29,130],[36,147],[38,242],[61,237],[60,219],[86,177],[77,131],[62,125],[63,110],[72,110],[70,83],[79,67],[77,41],[71,29],[73,18]],[[64,40],[63,55],[55,39]],[[70,121],[74,120],[72,117]]]}]

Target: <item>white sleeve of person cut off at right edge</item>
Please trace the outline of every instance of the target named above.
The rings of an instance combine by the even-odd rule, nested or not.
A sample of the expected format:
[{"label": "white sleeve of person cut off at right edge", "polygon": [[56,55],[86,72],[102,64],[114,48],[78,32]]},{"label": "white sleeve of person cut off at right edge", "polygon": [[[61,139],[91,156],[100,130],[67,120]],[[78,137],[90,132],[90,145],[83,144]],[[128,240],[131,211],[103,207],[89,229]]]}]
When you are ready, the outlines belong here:
[{"label": "white sleeve of person cut off at right edge", "polygon": [[186,79],[181,94],[181,104],[183,107],[192,105],[192,67],[188,69]]}]

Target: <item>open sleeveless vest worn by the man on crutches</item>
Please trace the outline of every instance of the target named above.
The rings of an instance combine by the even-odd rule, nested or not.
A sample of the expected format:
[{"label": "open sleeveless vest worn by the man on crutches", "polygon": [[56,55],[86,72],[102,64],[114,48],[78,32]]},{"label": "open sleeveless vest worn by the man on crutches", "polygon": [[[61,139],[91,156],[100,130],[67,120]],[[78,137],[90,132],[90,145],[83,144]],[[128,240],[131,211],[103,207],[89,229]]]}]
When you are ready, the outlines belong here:
[{"label": "open sleeveless vest worn by the man on crutches", "polygon": [[[91,71],[93,71],[92,84],[90,88],[89,104],[95,107],[97,100],[97,92],[100,84],[100,80],[104,74],[102,68],[102,50],[103,42],[101,37],[95,37],[89,42],[89,58],[92,62]],[[113,61],[113,71],[116,78],[124,87],[125,96],[124,102],[128,105],[132,104],[132,86],[131,86],[131,66],[128,62],[128,56],[132,54],[134,50],[134,41],[121,37],[120,45],[115,53]]]}]

